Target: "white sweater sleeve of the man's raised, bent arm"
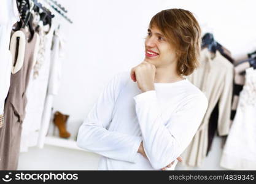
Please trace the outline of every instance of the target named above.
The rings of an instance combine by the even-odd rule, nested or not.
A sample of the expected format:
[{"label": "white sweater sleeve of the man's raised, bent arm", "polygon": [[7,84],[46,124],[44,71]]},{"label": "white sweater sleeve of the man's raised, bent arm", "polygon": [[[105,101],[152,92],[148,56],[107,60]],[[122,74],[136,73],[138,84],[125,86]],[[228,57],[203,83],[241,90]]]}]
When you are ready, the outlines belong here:
[{"label": "white sweater sleeve of the man's raised, bent arm", "polygon": [[161,169],[174,161],[190,144],[208,107],[208,100],[195,95],[163,121],[155,90],[134,97],[145,153],[152,167]]}]

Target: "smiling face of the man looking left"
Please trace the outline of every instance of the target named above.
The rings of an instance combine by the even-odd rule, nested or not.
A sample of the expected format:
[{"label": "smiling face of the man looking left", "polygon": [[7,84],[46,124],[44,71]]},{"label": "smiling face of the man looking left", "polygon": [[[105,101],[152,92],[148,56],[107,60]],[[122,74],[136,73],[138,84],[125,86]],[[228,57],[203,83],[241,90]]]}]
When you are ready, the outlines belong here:
[{"label": "smiling face of the man looking left", "polygon": [[166,67],[177,60],[174,47],[155,26],[148,29],[145,39],[145,60],[155,67]]}]

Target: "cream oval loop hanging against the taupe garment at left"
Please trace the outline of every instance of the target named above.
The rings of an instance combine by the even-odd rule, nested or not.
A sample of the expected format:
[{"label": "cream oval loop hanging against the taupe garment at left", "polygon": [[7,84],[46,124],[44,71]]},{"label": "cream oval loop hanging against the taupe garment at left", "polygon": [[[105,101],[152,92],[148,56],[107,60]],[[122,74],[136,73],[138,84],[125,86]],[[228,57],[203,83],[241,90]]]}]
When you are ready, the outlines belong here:
[{"label": "cream oval loop hanging against the taupe garment at left", "polygon": [[[18,45],[18,53],[16,55],[17,45]],[[24,58],[25,58],[25,48],[26,48],[25,34],[22,31],[15,31],[15,33],[12,34],[12,37],[10,39],[10,53],[12,54],[12,74],[15,74],[18,71],[20,71],[21,67],[23,66]]]}]

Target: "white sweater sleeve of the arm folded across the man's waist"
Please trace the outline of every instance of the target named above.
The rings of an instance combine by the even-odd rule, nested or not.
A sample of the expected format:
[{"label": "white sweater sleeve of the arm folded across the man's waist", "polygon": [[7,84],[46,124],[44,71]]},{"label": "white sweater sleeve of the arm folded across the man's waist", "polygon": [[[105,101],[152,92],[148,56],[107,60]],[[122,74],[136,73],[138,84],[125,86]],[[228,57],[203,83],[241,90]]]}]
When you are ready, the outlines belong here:
[{"label": "white sweater sleeve of the arm folded across the man's waist", "polygon": [[77,145],[102,156],[134,163],[141,137],[109,131],[115,100],[122,88],[122,77],[115,75],[109,82],[88,117],[79,128]]}]

